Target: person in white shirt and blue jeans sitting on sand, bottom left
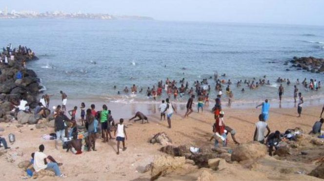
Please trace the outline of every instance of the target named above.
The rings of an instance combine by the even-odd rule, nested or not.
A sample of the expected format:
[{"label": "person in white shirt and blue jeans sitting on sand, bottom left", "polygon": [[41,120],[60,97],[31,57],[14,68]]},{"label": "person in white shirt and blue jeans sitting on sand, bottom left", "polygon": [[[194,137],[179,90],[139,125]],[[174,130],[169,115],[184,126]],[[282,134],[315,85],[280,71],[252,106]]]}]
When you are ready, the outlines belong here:
[{"label": "person in white shirt and blue jeans sitting on sand, bottom left", "polygon": [[[65,177],[63,174],[61,174],[60,168],[58,163],[50,156],[46,156],[43,151],[45,149],[44,145],[40,145],[39,147],[40,151],[36,151],[34,154],[34,164],[33,167],[36,172],[39,172],[43,169],[52,169],[55,172],[55,176],[58,177]],[[47,163],[47,160],[50,160],[51,162]]]}]

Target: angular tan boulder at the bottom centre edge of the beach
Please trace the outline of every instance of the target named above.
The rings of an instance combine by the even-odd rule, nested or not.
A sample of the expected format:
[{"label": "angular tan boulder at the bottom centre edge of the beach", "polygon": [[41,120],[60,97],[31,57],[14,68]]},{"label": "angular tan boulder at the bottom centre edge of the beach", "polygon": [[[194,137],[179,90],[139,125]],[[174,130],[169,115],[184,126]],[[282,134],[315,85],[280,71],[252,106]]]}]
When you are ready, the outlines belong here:
[{"label": "angular tan boulder at the bottom centre edge of the beach", "polygon": [[155,180],[160,176],[181,168],[185,164],[184,157],[171,157],[157,155],[154,157],[154,162],[151,170],[151,180]]}]

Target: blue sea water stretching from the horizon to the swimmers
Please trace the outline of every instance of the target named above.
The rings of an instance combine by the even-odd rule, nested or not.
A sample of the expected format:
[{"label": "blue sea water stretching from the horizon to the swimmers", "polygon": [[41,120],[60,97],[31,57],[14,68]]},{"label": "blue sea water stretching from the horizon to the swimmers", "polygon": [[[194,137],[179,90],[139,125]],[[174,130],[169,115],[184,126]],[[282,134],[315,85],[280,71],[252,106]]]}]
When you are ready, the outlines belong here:
[{"label": "blue sea water stretching from the horizon to the swimmers", "polygon": [[[168,77],[193,81],[207,78],[216,97],[214,72],[233,83],[270,80],[271,86],[250,90],[231,85],[233,104],[278,101],[278,77],[284,83],[284,101],[293,101],[296,79],[324,81],[323,73],[310,73],[284,65],[293,56],[324,58],[324,27],[303,25],[167,22],[157,20],[0,19],[1,44],[31,48],[40,60],[27,63],[46,87],[45,93],[60,99],[101,99],[113,103],[157,103],[145,96],[147,87]],[[93,62],[96,62],[94,64]],[[290,71],[285,71],[290,69]],[[122,93],[133,84],[136,97]],[[322,83],[324,85],[324,82]],[[117,89],[114,89],[117,86]],[[178,83],[180,86],[180,83]],[[245,92],[242,93],[242,88]],[[223,88],[224,92],[225,87]],[[305,99],[324,97],[319,91],[299,90]],[[121,95],[117,92],[121,91]],[[163,94],[162,98],[166,98]],[[184,103],[188,96],[179,97]],[[224,98],[226,99],[226,98]],[[160,98],[158,99],[160,103]]]}]

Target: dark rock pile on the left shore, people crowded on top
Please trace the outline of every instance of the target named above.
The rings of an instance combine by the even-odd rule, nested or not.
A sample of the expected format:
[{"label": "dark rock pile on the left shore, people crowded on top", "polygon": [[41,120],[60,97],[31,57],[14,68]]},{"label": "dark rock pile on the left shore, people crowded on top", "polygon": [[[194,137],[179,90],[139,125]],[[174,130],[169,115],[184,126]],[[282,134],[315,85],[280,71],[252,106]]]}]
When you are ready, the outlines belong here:
[{"label": "dark rock pile on the left shore, people crowded on top", "polygon": [[[3,55],[9,56],[7,51],[3,52]],[[38,58],[29,49],[28,53],[17,49],[16,52],[12,51],[11,55],[14,59],[11,60],[9,56],[10,60],[7,65],[0,63],[0,109],[6,112],[12,110],[15,105],[20,104],[22,98],[27,100],[26,106],[33,109],[38,104],[40,80],[34,71],[25,69],[23,64]],[[34,121],[31,120],[31,122]]]}]

